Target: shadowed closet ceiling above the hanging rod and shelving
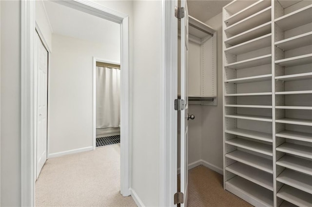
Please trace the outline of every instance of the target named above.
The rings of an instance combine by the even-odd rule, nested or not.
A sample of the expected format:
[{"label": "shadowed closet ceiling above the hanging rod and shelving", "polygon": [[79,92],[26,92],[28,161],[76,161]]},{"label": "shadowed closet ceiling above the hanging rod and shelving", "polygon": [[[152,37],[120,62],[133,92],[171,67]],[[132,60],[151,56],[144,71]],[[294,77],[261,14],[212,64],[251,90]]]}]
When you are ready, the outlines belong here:
[{"label": "shadowed closet ceiling above the hanging rod and shelving", "polygon": [[206,22],[222,12],[222,7],[232,0],[187,0],[189,14],[196,19]]}]

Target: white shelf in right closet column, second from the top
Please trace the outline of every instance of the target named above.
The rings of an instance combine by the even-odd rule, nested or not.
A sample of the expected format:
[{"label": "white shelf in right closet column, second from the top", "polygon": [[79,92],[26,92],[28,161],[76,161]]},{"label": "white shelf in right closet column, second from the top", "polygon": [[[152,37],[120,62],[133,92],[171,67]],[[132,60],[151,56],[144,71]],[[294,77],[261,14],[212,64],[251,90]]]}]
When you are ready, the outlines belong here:
[{"label": "white shelf in right closet column, second from the top", "polygon": [[275,42],[275,46],[284,51],[307,45],[312,45],[312,32]]}]

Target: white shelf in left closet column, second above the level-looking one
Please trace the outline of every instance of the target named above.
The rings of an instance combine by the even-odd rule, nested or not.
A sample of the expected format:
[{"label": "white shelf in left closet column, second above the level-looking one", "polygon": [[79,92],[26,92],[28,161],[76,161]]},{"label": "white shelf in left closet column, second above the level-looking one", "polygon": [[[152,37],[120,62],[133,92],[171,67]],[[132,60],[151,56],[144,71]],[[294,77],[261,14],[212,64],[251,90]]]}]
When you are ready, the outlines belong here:
[{"label": "white shelf in left closet column, second above the level-looking one", "polygon": [[[235,63],[230,63],[225,65],[224,67],[231,68],[231,69],[245,69],[251,68],[255,66],[261,66],[271,63],[272,54],[262,55],[260,57],[251,58],[248,60],[242,60]],[[275,61],[276,62],[276,61]]]}]

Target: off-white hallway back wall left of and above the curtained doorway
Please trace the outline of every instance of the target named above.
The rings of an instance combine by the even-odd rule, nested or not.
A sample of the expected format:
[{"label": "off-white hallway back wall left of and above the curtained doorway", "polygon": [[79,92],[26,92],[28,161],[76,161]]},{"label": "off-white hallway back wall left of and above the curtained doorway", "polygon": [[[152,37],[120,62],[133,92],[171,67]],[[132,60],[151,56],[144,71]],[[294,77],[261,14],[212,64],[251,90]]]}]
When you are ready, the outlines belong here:
[{"label": "off-white hallway back wall left of and above the curtained doorway", "polygon": [[104,44],[52,35],[49,154],[93,146],[93,57],[120,62],[115,29]]}]

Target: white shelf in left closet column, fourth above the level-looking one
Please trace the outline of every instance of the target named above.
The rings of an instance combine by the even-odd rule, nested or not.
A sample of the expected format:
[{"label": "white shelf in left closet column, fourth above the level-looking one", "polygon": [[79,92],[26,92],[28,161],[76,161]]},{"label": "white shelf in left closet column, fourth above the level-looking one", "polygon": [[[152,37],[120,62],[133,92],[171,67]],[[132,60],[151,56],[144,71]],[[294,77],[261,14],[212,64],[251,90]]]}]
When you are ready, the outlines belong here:
[{"label": "white shelf in left closet column, fourth above the level-looking one", "polygon": [[253,29],[247,30],[243,33],[240,33],[238,35],[234,35],[228,39],[226,39],[224,42],[230,45],[237,45],[243,42],[246,42],[248,40],[257,38],[259,36],[267,35],[271,33],[271,21],[266,22],[260,26],[257,26]]}]

